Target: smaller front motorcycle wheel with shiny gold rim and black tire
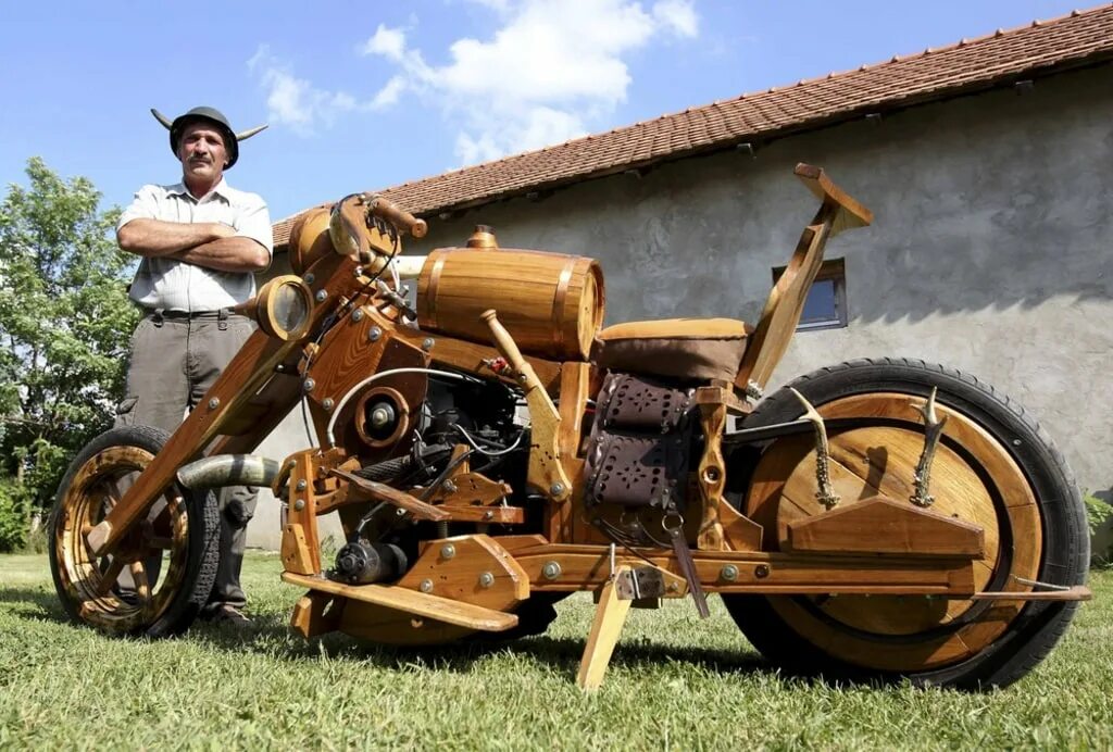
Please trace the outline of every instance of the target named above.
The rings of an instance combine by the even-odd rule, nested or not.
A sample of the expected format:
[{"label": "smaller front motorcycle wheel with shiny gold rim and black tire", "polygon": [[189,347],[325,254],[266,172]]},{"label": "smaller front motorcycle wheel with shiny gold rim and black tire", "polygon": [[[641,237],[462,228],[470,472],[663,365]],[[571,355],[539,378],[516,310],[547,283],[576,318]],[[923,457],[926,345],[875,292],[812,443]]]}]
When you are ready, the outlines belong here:
[{"label": "smaller front motorcycle wheel with shiny gold rim and black tire", "polygon": [[[75,622],[110,634],[161,637],[184,632],[205,605],[219,563],[211,492],[174,484],[116,554],[93,557],[85,544],[82,530],[104,517],[120,481],[134,478],[168,438],[149,426],[112,428],[87,444],[62,478],[48,552],[55,590]],[[129,574],[121,582],[124,568]]]}]

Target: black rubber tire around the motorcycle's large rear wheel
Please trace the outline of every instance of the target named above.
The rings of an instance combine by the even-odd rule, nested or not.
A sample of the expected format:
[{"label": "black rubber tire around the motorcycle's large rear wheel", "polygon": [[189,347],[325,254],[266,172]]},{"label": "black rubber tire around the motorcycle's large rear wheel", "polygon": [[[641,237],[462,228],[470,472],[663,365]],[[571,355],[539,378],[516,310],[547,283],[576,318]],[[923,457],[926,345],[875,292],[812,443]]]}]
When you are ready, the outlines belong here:
[{"label": "black rubber tire around the motorcycle's large rear wheel", "polygon": [[[1023,473],[1024,481],[1034,496],[1035,507],[1038,509],[1038,523],[1042,530],[1040,541],[1035,541],[1036,536],[1028,536],[1032,540],[1027,540],[1023,535],[1017,535],[1016,540],[1008,540],[1006,535],[1011,528],[1003,530],[999,551],[992,562],[993,573],[987,575],[991,581],[985,587],[1004,588],[1004,581],[1008,578],[1006,573],[1011,571],[1014,560],[1018,561],[1025,555],[1025,547],[1035,551],[1034,546],[1037,544],[1038,555],[1031,554],[1028,564],[1035,567],[1038,562],[1034,578],[1064,586],[1081,585],[1085,582],[1090,560],[1090,537],[1086,533],[1085,511],[1073,474],[1047,435],[1015,402],[972,376],[943,366],[907,359],[859,359],[797,378],[761,402],[747,417],[745,427],[792,420],[802,415],[800,403],[788,392],[788,387],[799,390],[816,407],[873,393],[878,393],[878,396],[896,393],[926,397],[932,388],[936,387],[937,404],[965,416],[988,432],[997,445],[1007,452]],[[776,442],[770,444],[765,452],[770,452],[776,445]],[[964,451],[962,446],[953,448],[955,456]],[[752,456],[740,453],[733,458],[731,472],[745,474],[747,469],[752,471]],[[749,481],[743,483],[749,485]],[[742,497],[743,508],[747,495],[743,494]],[[1028,507],[1031,506],[1030,504]],[[999,509],[995,514],[998,518],[1004,518]],[[767,535],[768,533],[767,527]],[[1012,545],[1008,545],[1009,543]],[[917,685],[943,685],[964,690],[1005,686],[1024,676],[1055,645],[1077,607],[1076,602],[1043,601],[1026,604],[1012,602],[1013,611],[1008,612],[1005,622],[1007,625],[1002,627],[1003,632],[993,636],[992,641],[979,647],[976,653],[922,670],[917,667],[917,659],[913,656],[917,654],[917,640],[923,640],[923,645],[927,645],[929,633],[926,630],[918,634],[897,636],[895,632],[887,634],[869,633],[868,630],[864,632],[861,629],[854,629],[838,620],[829,619],[827,614],[820,613],[820,608],[824,607],[820,605],[820,600],[805,596],[729,595],[723,596],[723,601],[754,646],[789,673],[821,674],[836,681],[892,681],[906,677]],[[873,606],[868,604],[878,601],[880,598],[859,603],[866,604],[869,608]],[[955,619],[956,626],[951,629],[957,630],[962,625],[965,625],[962,629],[972,629],[972,624],[979,626],[989,621],[991,606],[987,602],[962,603],[971,604],[969,611],[963,619]],[[843,605],[845,606],[845,603]],[[798,614],[807,616],[800,620]],[[999,615],[998,612],[993,614],[993,617]],[[979,617],[983,621],[979,622]],[[868,619],[863,617],[863,621]],[[844,639],[841,632],[845,632],[848,635],[847,642],[853,642],[856,650],[833,655],[829,645],[836,643],[834,640],[816,640],[816,625],[821,625],[818,626],[820,631],[831,630],[831,634],[839,632],[839,640]],[[804,631],[809,631],[811,639],[801,635],[798,626],[807,626]],[[939,634],[945,635],[946,629],[947,625],[943,624],[935,626],[930,632],[932,639],[940,639]],[[898,666],[896,670],[893,666],[880,669],[877,665],[868,665],[875,660],[873,657],[857,657],[859,654],[869,655],[870,644],[881,649],[886,647],[886,641],[893,643],[897,640],[910,645],[907,649],[908,665]],[[817,643],[824,643],[828,649],[821,649]],[[895,650],[905,649],[897,646]]]}]

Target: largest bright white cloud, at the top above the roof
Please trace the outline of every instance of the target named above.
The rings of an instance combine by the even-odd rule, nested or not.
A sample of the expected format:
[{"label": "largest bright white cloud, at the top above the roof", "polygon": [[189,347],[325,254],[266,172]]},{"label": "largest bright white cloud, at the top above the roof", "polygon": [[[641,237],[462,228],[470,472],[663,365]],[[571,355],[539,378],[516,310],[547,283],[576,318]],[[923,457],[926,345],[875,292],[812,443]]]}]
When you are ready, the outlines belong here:
[{"label": "largest bright white cloud, at the top above the roof", "polygon": [[650,12],[631,0],[473,2],[499,11],[503,26],[489,40],[453,42],[444,66],[427,65],[404,31],[382,24],[361,48],[398,69],[375,106],[405,89],[435,99],[461,122],[465,165],[584,135],[626,101],[626,56],[666,33],[698,34],[689,0],[660,0]]}]

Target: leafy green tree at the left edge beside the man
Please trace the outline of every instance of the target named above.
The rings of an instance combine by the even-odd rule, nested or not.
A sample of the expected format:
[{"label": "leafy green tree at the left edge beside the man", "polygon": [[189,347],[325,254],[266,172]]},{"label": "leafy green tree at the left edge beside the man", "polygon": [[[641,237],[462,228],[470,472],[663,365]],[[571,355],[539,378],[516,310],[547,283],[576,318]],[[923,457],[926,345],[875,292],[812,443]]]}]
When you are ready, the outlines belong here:
[{"label": "leafy green tree at the left edge beside the man", "polygon": [[118,209],[41,159],[0,202],[0,477],[49,504],[68,459],[109,427],[138,310]]}]

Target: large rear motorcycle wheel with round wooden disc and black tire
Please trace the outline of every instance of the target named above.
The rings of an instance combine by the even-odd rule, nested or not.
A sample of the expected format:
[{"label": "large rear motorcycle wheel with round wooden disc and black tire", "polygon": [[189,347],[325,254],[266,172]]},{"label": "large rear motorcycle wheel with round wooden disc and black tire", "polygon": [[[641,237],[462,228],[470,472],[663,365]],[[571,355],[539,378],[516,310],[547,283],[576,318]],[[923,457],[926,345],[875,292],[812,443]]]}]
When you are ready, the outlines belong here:
[{"label": "large rear motorcycle wheel with round wooden disc and black tire", "polygon": [[[843,504],[881,494],[907,499],[924,446],[919,407],[938,389],[947,415],[932,468],[932,511],[985,531],[975,587],[1021,592],[1040,581],[1076,585],[1090,556],[1085,515],[1070,469],[1023,409],[977,379],[913,360],[855,360],[789,386],[829,427],[830,475]],[[802,413],[786,389],[745,427]],[[743,465],[738,458],[736,472]],[[794,520],[825,509],[815,498],[815,443],[778,439],[757,458],[742,511],[776,551]],[[908,677],[965,689],[1009,684],[1052,649],[1076,603],[957,601],[925,596],[723,597],[754,645],[784,669],[836,679]]]}]

